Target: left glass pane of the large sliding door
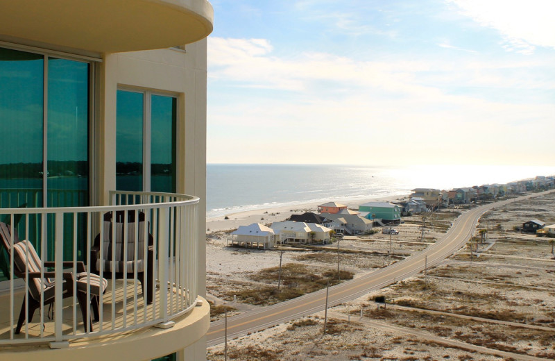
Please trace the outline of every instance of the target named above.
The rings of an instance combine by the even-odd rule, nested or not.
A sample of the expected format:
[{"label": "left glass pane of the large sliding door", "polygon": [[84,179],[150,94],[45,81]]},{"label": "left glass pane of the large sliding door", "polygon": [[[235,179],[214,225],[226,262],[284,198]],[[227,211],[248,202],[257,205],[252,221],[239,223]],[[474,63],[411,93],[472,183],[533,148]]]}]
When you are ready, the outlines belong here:
[{"label": "left glass pane of the large sliding door", "polygon": [[[0,208],[42,207],[43,80],[44,56],[0,48]],[[36,245],[40,219],[28,219],[28,235],[26,224],[26,217],[16,217],[19,235]],[[8,265],[0,249],[0,280],[8,279]]]}]

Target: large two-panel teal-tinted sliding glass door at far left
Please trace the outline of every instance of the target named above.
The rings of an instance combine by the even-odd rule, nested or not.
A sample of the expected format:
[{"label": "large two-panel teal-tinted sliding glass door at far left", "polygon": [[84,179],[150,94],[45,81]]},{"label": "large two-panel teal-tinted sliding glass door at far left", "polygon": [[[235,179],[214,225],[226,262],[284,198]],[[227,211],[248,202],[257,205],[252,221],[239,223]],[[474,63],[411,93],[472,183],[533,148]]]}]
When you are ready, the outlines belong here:
[{"label": "large two-panel teal-tinted sliding glass door at far left", "polygon": [[[89,205],[89,78],[88,62],[0,48],[0,208]],[[19,237],[51,259],[53,226],[42,242],[41,219],[14,221]],[[64,232],[64,253],[71,255],[73,230]],[[78,248],[82,257],[83,244]],[[0,280],[7,272],[0,251]]]}]

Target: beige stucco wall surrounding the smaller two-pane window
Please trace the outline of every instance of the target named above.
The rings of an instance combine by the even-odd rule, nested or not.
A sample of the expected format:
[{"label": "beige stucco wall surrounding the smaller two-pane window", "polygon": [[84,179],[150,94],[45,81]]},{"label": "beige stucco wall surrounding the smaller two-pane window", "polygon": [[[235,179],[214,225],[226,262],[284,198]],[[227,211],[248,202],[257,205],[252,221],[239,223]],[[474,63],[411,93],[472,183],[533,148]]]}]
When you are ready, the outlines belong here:
[{"label": "beige stucco wall surrounding the smaller two-pane window", "polygon": [[[205,296],[206,214],[206,40],[185,51],[161,49],[113,53],[96,65],[98,99],[95,125],[95,201],[108,204],[116,189],[117,89],[137,89],[178,98],[178,193],[200,198],[198,204],[198,289]],[[171,347],[170,347],[171,348]],[[173,349],[171,350],[173,352]],[[180,360],[204,360],[205,338],[178,353]]]}]

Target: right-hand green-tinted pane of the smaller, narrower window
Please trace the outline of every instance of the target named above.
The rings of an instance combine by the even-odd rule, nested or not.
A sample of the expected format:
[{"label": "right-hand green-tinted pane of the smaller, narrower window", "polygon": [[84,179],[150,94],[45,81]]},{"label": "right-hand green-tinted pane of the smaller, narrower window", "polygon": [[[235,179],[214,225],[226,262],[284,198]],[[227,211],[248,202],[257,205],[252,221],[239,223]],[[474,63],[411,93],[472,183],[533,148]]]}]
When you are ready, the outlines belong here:
[{"label": "right-hand green-tinted pane of the smaller, narrower window", "polygon": [[151,97],[151,190],[176,192],[177,99]]}]

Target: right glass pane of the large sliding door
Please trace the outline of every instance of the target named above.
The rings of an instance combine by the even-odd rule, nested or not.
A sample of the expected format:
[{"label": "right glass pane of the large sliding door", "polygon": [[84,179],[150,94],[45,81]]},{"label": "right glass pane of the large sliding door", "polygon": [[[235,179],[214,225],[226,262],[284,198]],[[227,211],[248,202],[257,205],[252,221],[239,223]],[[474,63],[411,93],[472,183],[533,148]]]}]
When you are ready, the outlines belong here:
[{"label": "right glass pane of the large sliding door", "polygon": [[[48,207],[89,205],[89,64],[74,60],[48,60]],[[49,233],[54,224],[49,217]],[[78,215],[78,258],[83,257],[87,226]],[[64,256],[73,254],[73,219],[64,218]],[[49,234],[49,256],[53,254]]]}]

